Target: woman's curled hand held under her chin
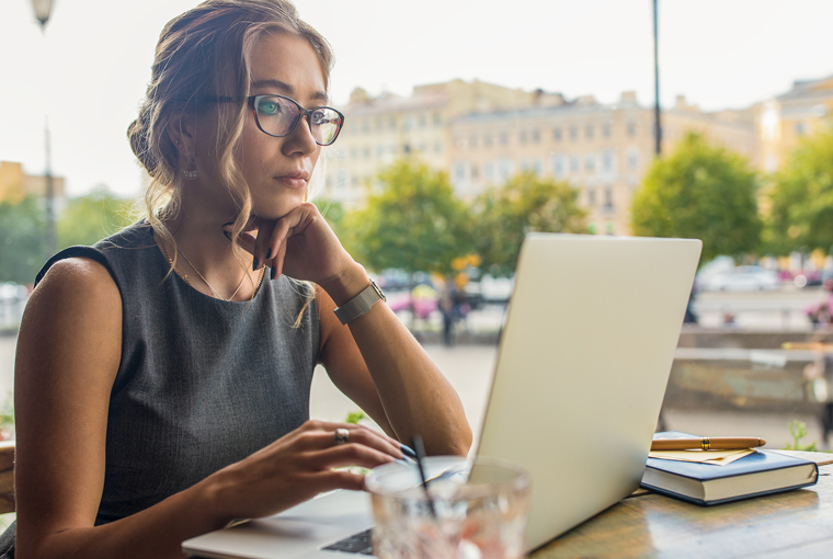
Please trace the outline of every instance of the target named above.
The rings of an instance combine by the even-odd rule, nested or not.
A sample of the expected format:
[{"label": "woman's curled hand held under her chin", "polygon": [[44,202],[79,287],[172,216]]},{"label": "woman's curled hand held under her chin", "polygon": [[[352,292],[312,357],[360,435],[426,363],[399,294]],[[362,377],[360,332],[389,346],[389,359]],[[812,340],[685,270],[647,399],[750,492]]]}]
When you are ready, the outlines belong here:
[{"label": "woman's curled hand held under her chin", "polygon": [[327,289],[328,283],[338,281],[357,265],[318,208],[308,202],[277,220],[255,218],[252,225],[256,237],[243,231],[240,246],[254,255],[255,270],[271,266],[273,278],[286,274]]}]

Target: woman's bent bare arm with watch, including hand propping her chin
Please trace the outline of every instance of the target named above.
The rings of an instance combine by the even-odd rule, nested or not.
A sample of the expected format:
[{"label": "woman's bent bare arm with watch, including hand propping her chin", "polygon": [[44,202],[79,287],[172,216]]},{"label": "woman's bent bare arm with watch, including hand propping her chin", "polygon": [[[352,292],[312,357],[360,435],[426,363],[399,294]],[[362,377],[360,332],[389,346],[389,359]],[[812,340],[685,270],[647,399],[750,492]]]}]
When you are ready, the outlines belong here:
[{"label": "woman's bent bare arm with watch, including hand propping her chin", "polygon": [[318,209],[306,203],[260,225],[256,239],[241,237],[258,262],[327,292],[319,299],[322,361],[333,383],[399,441],[419,433],[430,454],[466,455],[471,429],[457,392],[388,306],[376,304],[346,327],[332,313],[369,282]]}]

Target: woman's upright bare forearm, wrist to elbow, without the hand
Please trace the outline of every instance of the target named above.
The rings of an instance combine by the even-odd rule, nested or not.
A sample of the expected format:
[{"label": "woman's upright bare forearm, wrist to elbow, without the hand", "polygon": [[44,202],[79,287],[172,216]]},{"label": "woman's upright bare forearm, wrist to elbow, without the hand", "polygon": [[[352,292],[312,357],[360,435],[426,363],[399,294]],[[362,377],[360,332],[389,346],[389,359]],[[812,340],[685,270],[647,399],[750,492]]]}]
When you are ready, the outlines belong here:
[{"label": "woman's upright bare forearm, wrist to elbow, without the hand", "polygon": [[465,456],[471,429],[463,403],[393,311],[379,301],[347,326],[333,313],[335,303],[343,305],[368,285],[356,265],[330,285],[335,301],[330,292],[319,297],[328,374],[388,434],[404,443],[420,434],[429,454]]}]

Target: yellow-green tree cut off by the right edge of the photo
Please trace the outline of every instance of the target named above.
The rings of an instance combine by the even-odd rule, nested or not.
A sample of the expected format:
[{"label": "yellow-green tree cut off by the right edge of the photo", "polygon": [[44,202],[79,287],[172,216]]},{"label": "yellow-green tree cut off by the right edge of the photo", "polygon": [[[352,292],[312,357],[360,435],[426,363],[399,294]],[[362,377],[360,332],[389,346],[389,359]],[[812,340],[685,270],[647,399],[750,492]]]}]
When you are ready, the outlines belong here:
[{"label": "yellow-green tree cut off by the right edge of the photo", "polygon": [[765,239],[774,253],[833,246],[833,127],[805,138],[774,175]]}]

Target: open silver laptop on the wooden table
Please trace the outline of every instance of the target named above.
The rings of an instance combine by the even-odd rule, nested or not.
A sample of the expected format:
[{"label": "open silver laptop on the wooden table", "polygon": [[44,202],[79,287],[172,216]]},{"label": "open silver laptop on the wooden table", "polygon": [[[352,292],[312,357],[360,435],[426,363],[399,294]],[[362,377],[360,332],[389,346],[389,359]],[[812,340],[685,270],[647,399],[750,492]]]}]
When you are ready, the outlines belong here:
[{"label": "open silver laptop on the wooden table", "polygon": [[[526,236],[471,454],[529,471],[529,550],[639,487],[700,249],[691,239]],[[367,493],[335,491],[182,549],[358,559],[373,554],[372,526]]]}]

